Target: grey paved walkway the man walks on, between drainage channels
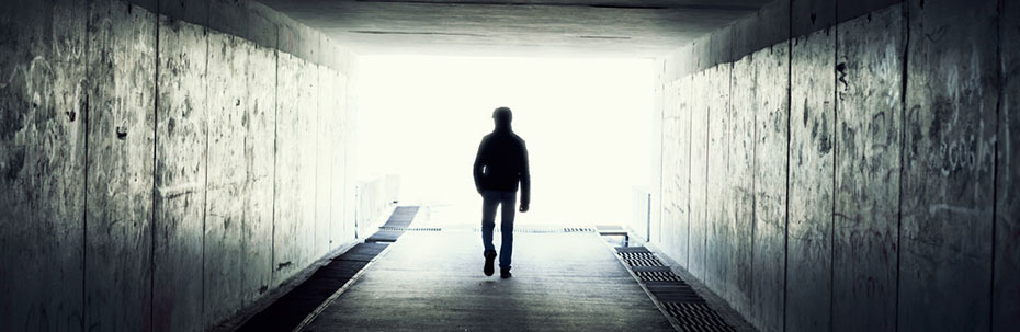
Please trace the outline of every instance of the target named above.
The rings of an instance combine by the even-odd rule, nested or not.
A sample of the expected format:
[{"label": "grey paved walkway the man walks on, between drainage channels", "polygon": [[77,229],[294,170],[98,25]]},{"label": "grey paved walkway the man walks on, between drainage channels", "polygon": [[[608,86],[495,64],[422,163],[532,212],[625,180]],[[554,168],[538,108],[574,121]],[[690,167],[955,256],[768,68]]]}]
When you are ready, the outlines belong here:
[{"label": "grey paved walkway the man walks on, between drainage channels", "polygon": [[483,263],[477,231],[406,232],[304,331],[673,330],[596,233],[514,233],[509,279]]}]

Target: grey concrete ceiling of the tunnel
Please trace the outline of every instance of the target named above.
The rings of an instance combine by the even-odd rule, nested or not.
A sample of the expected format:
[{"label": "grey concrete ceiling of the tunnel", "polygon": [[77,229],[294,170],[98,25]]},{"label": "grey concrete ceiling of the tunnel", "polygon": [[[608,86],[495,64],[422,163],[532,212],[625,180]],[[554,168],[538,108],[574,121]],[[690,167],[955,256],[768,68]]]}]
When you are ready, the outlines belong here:
[{"label": "grey concrete ceiling of the tunnel", "polygon": [[656,57],[771,0],[260,0],[364,55]]}]

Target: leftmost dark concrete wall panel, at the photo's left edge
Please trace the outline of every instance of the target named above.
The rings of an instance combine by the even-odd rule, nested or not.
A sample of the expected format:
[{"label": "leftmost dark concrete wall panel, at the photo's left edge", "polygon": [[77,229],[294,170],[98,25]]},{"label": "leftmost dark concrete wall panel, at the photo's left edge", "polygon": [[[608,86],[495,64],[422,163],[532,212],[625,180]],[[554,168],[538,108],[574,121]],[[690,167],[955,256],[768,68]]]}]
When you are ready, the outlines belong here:
[{"label": "leftmost dark concrete wall panel, at the photo's left edge", "polygon": [[79,329],[88,130],[80,1],[0,11],[0,330]]}]

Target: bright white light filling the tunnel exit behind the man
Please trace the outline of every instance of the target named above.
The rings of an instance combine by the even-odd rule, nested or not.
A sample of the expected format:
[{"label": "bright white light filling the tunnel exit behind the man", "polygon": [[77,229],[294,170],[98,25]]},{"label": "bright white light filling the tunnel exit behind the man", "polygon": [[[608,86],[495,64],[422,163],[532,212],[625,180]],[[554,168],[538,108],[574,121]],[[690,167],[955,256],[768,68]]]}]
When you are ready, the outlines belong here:
[{"label": "bright white light filling the tunnel exit behind the man", "polygon": [[531,162],[519,224],[626,224],[649,184],[650,60],[365,56],[358,78],[358,176],[399,174],[401,204],[480,220],[472,163],[499,106]]}]

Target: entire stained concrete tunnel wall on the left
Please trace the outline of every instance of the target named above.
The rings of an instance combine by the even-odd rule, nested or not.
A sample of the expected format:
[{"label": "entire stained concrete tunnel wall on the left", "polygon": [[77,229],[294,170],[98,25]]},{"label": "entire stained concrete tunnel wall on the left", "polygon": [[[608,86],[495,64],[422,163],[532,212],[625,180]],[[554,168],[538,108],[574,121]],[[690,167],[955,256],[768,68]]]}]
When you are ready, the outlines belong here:
[{"label": "entire stained concrete tunnel wall on the left", "polygon": [[205,330],[354,238],[322,34],[234,0],[0,12],[0,330]]}]

